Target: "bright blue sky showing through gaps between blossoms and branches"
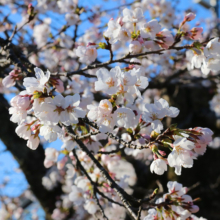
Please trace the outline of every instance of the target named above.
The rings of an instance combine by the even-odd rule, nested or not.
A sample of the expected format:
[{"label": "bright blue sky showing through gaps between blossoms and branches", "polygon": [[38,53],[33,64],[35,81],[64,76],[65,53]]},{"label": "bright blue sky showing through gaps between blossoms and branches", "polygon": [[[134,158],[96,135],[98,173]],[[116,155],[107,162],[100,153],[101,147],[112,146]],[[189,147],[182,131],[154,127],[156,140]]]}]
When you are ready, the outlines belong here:
[{"label": "bright blue sky showing through gaps between blossoms and branches", "polygon": [[[36,2],[36,1],[33,1],[33,2]],[[85,6],[89,5],[91,7],[93,5],[100,4],[102,10],[115,8],[118,6],[118,2],[119,1],[111,1],[111,2],[104,2],[103,4],[103,1],[101,0],[82,0],[82,1],[80,0],[80,4],[85,5]],[[127,3],[130,3],[130,2],[131,1],[127,1]],[[2,20],[2,16],[7,15],[10,12],[10,9],[8,7],[0,7],[0,9],[3,12],[3,14],[0,15],[0,20]],[[180,0],[179,4],[177,5],[177,9],[180,9],[181,11],[186,10],[186,9],[195,10],[197,13],[197,18],[194,21],[194,23],[199,19],[211,16],[210,11],[207,11],[200,5],[194,4],[193,0]],[[54,13],[49,12],[48,15],[50,17],[53,17]],[[182,16],[184,16],[184,14],[182,14]],[[43,17],[44,16],[42,16],[42,18]],[[81,18],[85,19],[86,17],[87,16],[82,16]],[[16,22],[21,21],[21,16],[18,13],[11,15],[9,18],[12,21],[16,21]],[[108,22],[107,19],[104,20],[101,25],[103,25],[106,22]],[[65,22],[62,21],[61,19],[60,23],[64,24]],[[57,22],[55,21],[53,22],[53,25],[59,26],[57,25]],[[83,34],[84,31],[91,26],[92,24],[90,22],[88,21],[83,22],[82,27],[79,28],[79,34]],[[69,29],[67,33],[72,34],[73,28]],[[1,33],[0,33],[0,36],[4,37],[4,35]],[[12,97],[13,95],[6,96],[8,101],[10,101]],[[62,145],[61,141],[56,141],[53,144],[47,144],[47,146],[50,146],[50,147],[52,146],[57,149],[59,149],[61,145]],[[28,184],[23,173],[16,172],[18,168],[18,163],[13,159],[13,156],[10,154],[10,152],[5,151],[5,150],[6,148],[4,144],[0,141],[0,184],[2,184],[6,178],[8,179],[7,187],[4,189],[4,191],[0,191],[0,194],[7,195],[10,197],[17,197],[28,187]],[[26,217],[25,219],[30,219],[30,218]],[[42,219],[44,218],[42,217]]]}]

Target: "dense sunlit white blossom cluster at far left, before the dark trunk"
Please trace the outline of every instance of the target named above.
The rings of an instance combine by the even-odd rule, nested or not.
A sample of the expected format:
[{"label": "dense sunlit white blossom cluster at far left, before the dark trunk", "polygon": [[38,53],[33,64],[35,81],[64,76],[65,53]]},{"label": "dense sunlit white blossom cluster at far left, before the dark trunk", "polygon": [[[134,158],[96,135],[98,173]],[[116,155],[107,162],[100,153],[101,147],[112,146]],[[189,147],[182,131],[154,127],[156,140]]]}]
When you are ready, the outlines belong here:
[{"label": "dense sunlit white blossom cluster at far left, before the dark trunk", "polygon": [[[53,142],[59,136],[64,137],[59,123],[64,125],[77,124],[78,118],[86,114],[79,107],[80,96],[63,97],[61,94],[53,95],[52,86],[63,91],[62,81],[50,78],[50,72],[46,74],[35,68],[35,77],[25,77],[23,85],[26,90],[11,100],[9,109],[11,121],[18,123],[16,133],[28,140],[27,146],[36,149],[39,145],[38,135]],[[29,117],[28,114],[34,117]]]}]

